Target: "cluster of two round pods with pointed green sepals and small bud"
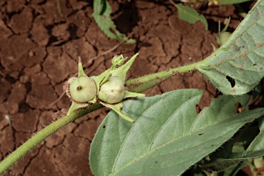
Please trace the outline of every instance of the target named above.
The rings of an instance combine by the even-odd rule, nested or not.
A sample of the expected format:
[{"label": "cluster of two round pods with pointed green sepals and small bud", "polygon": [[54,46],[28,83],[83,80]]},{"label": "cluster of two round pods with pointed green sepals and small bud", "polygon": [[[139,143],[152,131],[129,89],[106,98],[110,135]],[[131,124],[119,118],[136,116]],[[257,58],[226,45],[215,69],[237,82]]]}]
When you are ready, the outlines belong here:
[{"label": "cluster of two round pods with pointed green sepals and small bud", "polygon": [[83,65],[79,58],[78,76],[69,78],[63,89],[67,96],[72,100],[72,106],[69,108],[67,115],[91,103],[100,102],[105,107],[113,109],[118,115],[125,120],[135,122],[127,115],[122,113],[122,100],[125,98],[135,98],[145,96],[124,89],[126,73],[131,67],[138,53],[132,56],[124,65],[122,55],[114,56],[112,66],[99,76],[87,76],[83,71]]}]

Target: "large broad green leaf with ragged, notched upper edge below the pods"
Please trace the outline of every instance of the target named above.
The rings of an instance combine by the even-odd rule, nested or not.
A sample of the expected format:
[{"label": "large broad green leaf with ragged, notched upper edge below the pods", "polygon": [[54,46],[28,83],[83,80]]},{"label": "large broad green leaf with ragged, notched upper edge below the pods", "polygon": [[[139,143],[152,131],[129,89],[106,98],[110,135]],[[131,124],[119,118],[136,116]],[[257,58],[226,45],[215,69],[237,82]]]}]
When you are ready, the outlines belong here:
[{"label": "large broad green leaf with ragged, notched upper edge below the pods", "polygon": [[202,91],[180,89],[161,96],[124,102],[100,124],[89,155],[94,175],[180,175],[215,151],[264,109],[235,113],[236,102],[248,96],[222,96],[197,115]]}]

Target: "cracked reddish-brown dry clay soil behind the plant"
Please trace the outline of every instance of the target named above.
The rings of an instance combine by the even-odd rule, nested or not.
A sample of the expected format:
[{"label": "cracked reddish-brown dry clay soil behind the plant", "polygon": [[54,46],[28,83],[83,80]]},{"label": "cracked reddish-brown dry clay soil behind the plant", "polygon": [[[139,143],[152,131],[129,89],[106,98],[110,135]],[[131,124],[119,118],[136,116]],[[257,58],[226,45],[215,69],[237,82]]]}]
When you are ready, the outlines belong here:
[{"label": "cracked reddish-brown dry clay soil behind the plant", "polygon": [[[177,18],[168,1],[110,1],[118,30],[137,41],[110,50],[119,41],[108,39],[91,14],[92,1],[61,0],[62,14],[52,0],[0,1],[0,159],[33,133],[52,122],[52,114],[69,108],[65,81],[77,72],[78,56],[85,72],[97,75],[111,65],[115,54],[137,57],[129,78],[201,61],[217,45],[218,21],[232,17],[232,32],[241,21],[234,5],[194,7],[208,19],[189,24]],[[251,3],[248,3],[252,7]],[[146,96],[197,88],[205,91],[199,108],[218,91],[197,72],[182,74],[146,91]],[[99,109],[67,125],[41,142],[4,175],[92,175],[89,146],[108,109]],[[10,120],[10,121],[9,121]]]}]

